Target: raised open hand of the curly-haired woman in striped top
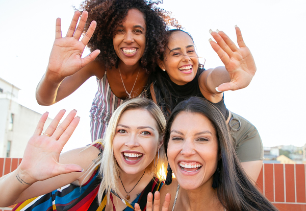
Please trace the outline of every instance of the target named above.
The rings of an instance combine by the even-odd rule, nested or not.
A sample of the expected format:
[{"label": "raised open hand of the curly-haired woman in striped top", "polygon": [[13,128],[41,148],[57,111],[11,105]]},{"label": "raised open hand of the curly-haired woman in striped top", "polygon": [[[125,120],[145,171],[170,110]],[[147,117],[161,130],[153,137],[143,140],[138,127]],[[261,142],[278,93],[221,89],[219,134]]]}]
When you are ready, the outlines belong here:
[{"label": "raised open hand of the curly-haired woman in striped top", "polygon": [[66,37],[62,37],[61,19],[57,18],[56,20],[56,36],[46,72],[48,79],[51,81],[61,82],[65,77],[77,73],[86,64],[93,61],[100,53],[99,50],[95,50],[88,56],[81,58],[85,46],[95,30],[96,22],[91,22],[86,34],[79,41],[88,13],[86,11],[82,13],[77,27],[80,15],[81,13],[79,11],[74,13]]}]

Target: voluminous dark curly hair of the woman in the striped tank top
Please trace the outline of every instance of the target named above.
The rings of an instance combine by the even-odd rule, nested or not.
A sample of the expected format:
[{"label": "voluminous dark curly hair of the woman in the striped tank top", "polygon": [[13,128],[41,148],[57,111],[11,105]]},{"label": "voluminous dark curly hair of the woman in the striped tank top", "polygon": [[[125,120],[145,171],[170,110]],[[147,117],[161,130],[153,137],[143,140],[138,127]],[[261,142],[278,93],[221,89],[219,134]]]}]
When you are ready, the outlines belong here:
[{"label": "voluminous dark curly hair of the woman in the striped tank top", "polygon": [[116,27],[124,20],[130,9],[138,9],[146,21],[146,45],[141,58],[141,66],[149,73],[154,71],[158,59],[165,51],[167,25],[180,28],[170,12],[157,7],[162,1],[151,0],[87,0],[82,3],[81,10],[88,12],[85,31],[91,21],[97,22],[96,29],[88,42],[90,51],[99,49],[96,58],[107,68],[118,67],[119,58],[114,50],[113,36]]}]

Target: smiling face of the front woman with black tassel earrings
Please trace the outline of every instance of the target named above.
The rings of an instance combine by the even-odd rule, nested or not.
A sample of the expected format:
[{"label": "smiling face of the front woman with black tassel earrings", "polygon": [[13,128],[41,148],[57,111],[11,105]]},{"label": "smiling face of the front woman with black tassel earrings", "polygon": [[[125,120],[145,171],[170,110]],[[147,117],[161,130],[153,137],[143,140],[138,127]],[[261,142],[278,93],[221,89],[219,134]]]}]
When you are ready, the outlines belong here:
[{"label": "smiling face of the front woman with black tassel earrings", "polygon": [[167,155],[177,181],[185,190],[206,184],[211,187],[219,153],[216,131],[210,120],[199,113],[182,111],[170,131]]}]

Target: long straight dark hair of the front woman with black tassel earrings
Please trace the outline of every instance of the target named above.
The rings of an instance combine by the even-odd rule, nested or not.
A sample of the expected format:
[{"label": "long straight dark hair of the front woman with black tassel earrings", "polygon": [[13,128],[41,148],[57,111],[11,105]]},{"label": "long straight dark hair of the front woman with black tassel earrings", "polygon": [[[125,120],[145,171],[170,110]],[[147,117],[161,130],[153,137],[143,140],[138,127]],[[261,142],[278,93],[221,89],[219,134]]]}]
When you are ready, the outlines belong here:
[{"label": "long straight dark hair of the front woman with black tassel earrings", "polygon": [[[199,113],[206,116],[217,132],[221,153],[221,171],[217,196],[226,210],[277,210],[250,181],[242,169],[230,133],[221,112],[206,99],[191,97],[179,103],[167,122],[164,148],[167,152],[170,130],[176,116],[181,112]],[[184,124],[184,123],[182,123]]]}]

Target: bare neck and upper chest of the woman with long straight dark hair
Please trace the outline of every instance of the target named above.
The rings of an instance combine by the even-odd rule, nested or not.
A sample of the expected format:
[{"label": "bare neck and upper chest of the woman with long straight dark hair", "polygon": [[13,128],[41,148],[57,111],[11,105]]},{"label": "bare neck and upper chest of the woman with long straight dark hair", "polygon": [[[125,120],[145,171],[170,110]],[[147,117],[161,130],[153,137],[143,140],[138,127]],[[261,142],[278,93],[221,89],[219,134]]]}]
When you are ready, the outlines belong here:
[{"label": "bare neck and upper chest of the woman with long straight dark hair", "polygon": [[[224,210],[218,196],[217,189],[213,189],[211,184],[203,184],[195,190],[185,190],[180,188],[180,206],[181,210],[203,210],[203,211],[221,211]],[[176,208],[176,206],[175,206]],[[176,209],[177,210],[177,209]]]}]

